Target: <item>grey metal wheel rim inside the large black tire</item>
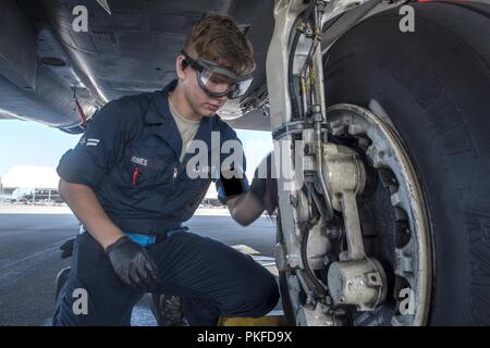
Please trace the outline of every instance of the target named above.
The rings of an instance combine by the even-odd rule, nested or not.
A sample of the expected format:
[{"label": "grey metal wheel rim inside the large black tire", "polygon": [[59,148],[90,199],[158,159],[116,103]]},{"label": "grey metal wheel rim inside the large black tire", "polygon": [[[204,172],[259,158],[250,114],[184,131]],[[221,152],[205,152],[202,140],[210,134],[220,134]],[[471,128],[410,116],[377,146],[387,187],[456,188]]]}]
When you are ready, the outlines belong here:
[{"label": "grey metal wheel rim inside the large black tire", "polygon": [[[330,107],[327,120],[334,139],[344,137],[359,140],[368,165],[382,177],[382,185],[389,187],[388,200],[395,216],[396,227],[389,232],[394,240],[394,250],[390,251],[393,262],[383,264],[387,274],[393,278],[391,289],[389,287],[391,302],[387,299],[373,312],[351,315],[351,323],[425,325],[429,316],[432,279],[430,229],[422,189],[403,142],[385,115],[377,115],[358,105]],[[285,276],[293,308],[297,311],[298,306],[302,306],[297,279],[292,273]],[[347,313],[352,309],[348,308]]]}]

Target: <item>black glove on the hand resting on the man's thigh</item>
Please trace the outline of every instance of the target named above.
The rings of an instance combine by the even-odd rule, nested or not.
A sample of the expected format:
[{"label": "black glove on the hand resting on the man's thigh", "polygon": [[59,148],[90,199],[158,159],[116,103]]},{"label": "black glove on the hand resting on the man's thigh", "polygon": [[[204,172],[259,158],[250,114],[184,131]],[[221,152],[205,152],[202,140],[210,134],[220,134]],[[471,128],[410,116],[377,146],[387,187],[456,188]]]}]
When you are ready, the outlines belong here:
[{"label": "black glove on the hand resting on the man's thigh", "polygon": [[148,252],[127,237],[121,237],[106,249],[118,277],[142,291],[157,289],[157,265]]}]

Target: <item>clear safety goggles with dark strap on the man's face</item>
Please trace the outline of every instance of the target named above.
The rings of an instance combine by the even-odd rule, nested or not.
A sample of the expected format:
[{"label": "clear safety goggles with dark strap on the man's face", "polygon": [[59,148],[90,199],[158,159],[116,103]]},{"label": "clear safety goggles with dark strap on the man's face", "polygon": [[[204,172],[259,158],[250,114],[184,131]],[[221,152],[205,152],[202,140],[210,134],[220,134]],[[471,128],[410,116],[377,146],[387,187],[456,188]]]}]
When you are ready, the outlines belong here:
[{"label": "clear safety goggles with dark strap on the man's face", "polygon": [[250,87],[252,75],[238,76],[234,72],[222,67],[215,62],[198,58],[192,59],[184,51],[184,69],[191,65],[196,71],[197,83],[210,97],[220,98],[226,96],[229,99],[236,99],[245,95]]}]

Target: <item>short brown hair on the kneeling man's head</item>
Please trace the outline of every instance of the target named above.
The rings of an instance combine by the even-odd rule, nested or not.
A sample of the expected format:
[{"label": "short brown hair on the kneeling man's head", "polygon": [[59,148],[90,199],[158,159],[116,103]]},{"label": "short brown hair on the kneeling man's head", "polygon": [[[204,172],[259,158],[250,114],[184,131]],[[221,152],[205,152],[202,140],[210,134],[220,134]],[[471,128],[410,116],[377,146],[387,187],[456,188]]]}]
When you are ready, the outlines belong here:
[{"label": "short brown hair on the kneeling man's head", "polygon": [[194,24],[184,50],[194,58],[221,64],[237,75],[247,75],[255,69],[250,41],[228,15],[212,14]]}]

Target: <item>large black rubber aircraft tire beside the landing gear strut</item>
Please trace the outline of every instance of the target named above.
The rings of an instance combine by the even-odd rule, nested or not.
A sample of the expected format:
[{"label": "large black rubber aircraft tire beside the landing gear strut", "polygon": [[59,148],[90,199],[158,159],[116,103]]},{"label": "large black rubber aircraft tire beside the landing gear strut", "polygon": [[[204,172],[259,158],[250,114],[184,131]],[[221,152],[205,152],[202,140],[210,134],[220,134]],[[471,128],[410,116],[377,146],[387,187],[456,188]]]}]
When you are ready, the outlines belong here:
[{"label": "large black rubber aircraft tire beside the landing gear strut", "polygon": [[367,18],[329,51],[329,105],[376,99],[427,199],[431,325],[490,324],[490,5],[414,4]]}]

